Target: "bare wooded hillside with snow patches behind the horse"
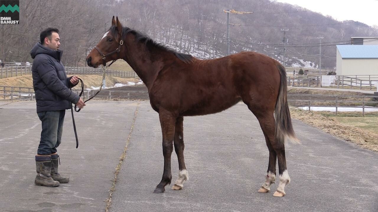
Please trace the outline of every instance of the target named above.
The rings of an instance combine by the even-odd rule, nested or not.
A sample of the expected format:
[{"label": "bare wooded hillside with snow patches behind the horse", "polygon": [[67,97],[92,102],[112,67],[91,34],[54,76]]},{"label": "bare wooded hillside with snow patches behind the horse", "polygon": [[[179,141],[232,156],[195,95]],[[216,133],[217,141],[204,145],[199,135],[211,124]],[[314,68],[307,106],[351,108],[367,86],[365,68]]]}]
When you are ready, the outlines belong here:
[{"label": "bare wooded hillside with snow patches behind the horse", "polygon": [[[43,5],[50,11],[44,19],[36,9],[39,6],[42,3],[37,0],[28,1],[20,13],[20,20],[25,21],[16,27],[0,28],[0,60],[32,62],[29,51],[38,41],[40,30],[56,26],[61,30],[63,63],[84,66],[88,51],[109,28],[112,15],[118,15],[124,26],[144,32],[178,52],[216,58],[227,54],[227,14],[223,9],[251,11],[229,15],[229,22],[237,24],[230,25],[231,53],[257,51],[283,62],[281,29],[289,29],[285,40],[288,66],[316,67],[317,37],[324,37],[322,67],[333,68],[336,44],[350,43],[351,36],[378,36],[378,26],[339,22],[311,8],[270,0],[65,0]],[[73,9],[62,9],[67,7]],[[48,24],[45,19],[50,20]]]}]

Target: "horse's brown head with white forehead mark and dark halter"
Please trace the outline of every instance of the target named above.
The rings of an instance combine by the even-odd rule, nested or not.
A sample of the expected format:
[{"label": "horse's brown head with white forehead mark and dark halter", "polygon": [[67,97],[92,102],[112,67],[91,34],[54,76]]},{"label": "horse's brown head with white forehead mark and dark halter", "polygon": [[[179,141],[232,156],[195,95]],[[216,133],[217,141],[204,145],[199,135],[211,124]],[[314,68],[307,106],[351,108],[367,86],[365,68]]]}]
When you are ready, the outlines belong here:
[{"label": "horse's brown head with white forehead mark and dark halter", "polygon": [[96,47],[88,54],[88,66],[97,68],[101,64],[105,65],[108,61],[121,58],[119,52],[122,45],[122,25],[118,17],[115,19],[113,16],[112,27],[110,27],[110,30],[105,33]]}]

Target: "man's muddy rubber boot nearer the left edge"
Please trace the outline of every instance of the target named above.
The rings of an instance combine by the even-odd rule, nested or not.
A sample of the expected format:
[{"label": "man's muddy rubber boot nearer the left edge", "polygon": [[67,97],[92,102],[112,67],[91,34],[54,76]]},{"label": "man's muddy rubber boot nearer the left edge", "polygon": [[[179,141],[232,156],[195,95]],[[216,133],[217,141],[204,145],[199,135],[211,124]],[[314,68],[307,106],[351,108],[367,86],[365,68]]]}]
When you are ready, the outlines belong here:
[{"label": "man's muddy rubber boot nearer the left edge", "polygon": [[50,175],[51,157],[50,155],[36,155],[37,176],[34,183],[39,186],[56,187],[59,182],[53,180]]}]

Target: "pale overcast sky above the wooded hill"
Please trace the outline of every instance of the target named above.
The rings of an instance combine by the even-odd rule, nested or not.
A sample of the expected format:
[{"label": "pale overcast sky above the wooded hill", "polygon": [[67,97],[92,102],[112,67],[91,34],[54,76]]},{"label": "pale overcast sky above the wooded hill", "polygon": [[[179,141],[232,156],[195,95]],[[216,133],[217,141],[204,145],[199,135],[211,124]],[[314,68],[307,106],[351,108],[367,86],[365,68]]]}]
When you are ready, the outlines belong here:
[{"label": "pale overcast sky above the wooded hill", "polygon": [[353,20],[378,26],[378,0],[276,0],[298,5],[323,15],[330,15],[338,21]]}]

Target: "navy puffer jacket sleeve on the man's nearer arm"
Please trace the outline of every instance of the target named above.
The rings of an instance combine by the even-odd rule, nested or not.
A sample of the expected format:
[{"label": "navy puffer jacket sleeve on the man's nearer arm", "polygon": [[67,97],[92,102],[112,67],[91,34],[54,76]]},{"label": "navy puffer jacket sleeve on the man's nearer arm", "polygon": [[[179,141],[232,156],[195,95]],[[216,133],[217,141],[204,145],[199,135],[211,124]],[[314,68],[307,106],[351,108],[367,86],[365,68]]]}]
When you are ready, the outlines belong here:
[{"label": "navy puffer jacket sleeve on the man's nearer arm", "polygon": [[40,61],[40,65],[37,66],[36,69],[43,82],[47,85],[47,88],[56,95],[72,103],[79,101],[79,95],[68,89],[67,86],[60,81],[56,69],[48,59]]}]

